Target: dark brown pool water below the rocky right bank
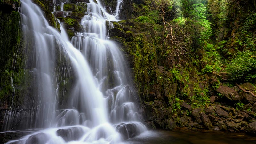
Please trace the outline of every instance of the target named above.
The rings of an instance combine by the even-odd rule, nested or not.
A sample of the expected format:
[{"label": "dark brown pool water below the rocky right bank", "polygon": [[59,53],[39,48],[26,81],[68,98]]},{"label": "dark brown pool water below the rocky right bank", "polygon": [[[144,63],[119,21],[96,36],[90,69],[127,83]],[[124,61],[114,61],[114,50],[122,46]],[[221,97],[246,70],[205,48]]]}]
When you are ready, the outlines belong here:
[{"label": "dark brown pool water below the rocky right bank", "polygon": [[[132,144],[256,144],[256,136],[245,133],[210,130],[190,130],[185,128],[170,131],[148,131],[139,137],[129,139]],[[148,136],[151,135],[151,136]]]}]

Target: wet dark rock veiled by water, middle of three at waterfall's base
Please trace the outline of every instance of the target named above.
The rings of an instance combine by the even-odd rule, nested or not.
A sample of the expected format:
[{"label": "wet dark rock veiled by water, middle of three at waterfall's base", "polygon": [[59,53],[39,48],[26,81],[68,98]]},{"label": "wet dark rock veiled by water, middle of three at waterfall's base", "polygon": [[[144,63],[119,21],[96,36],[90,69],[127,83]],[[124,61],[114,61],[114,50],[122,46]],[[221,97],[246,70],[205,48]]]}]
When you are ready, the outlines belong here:
[{"label": "wet dark rock veiled by water, middle of three at waterfall's base", "polygon": [[57,136],[60,136],[65,140],[66,142],[72,141],[72,140],[78,140],[81,138],[83,132],[82,128],[79,127],[71,127],[68,129],[58,129],[56,131]]}]

